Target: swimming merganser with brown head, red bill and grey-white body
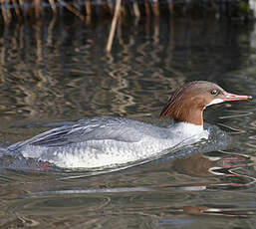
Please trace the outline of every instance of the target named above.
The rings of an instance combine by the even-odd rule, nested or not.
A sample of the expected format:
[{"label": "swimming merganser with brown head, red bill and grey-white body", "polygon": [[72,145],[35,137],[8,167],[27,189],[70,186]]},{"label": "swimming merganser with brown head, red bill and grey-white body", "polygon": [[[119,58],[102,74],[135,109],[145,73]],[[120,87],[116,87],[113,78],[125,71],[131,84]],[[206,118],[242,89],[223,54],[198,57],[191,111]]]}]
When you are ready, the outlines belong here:
[{"label": "swimming merganser with brown head, red bill and grey-white body", "polygon": [[14,143],[7,150],[66,168],[120,165],[207,138],[208,131],[203,129],[207,106],[250,98],[226,93],[210,82],[195,81],[178,89],[161,111],[161,118],[173,118],[170,126],[124,117],[93,117]]}]

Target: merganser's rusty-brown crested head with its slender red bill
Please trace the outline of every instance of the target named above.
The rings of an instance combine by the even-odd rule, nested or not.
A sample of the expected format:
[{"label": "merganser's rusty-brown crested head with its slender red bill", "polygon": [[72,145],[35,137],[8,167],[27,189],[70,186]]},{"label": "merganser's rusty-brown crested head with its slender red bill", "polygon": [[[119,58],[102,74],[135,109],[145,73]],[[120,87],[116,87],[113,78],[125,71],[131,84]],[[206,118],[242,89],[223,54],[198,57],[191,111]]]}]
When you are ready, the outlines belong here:
[{"label": "merganser's rusty-brown crested head with its slender red bill", "polygon": [[227,101],[248,100],[251,97],[225,92],[214,83],[194,81],[178,89],[161,111],[160,118],[171,116],[174,121],[203,124],[203,110],[210,105]]}]

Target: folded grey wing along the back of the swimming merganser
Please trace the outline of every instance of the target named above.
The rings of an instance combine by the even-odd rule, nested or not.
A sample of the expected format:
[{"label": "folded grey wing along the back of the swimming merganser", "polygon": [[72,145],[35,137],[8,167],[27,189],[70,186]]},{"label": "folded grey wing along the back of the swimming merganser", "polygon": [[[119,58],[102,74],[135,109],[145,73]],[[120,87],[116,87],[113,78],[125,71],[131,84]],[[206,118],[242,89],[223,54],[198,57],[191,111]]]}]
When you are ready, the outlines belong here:
[{"label": "folded grey wing along the back of the swimming merganser", "polygon": [[122,117],[94,117],[50,129],[28,140],[12,144],[9,146],[9,149],[16,150],[27,144],[50,147],[87,140],[104,139],[136,142],[141,136],[135,124],[135,120]]}]

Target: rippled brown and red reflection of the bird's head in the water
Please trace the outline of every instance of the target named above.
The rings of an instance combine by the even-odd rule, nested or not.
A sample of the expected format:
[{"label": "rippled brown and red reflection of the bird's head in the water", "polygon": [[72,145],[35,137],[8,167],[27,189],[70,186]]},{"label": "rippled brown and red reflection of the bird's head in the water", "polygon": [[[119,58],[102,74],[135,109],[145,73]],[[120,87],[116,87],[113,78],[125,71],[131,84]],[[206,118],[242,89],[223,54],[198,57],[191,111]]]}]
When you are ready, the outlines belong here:
[{"label": "rippled brown and red reflection of the bird's head in the water", "polygon": [[[213,154],[214,153],[214,154]],[[197,153],[179,158],[173,163],[173,169],[193,177],[218,177],[217,183],[204,183],[179,186],[178,189],[234,189],[248,187],[256,182],[254,177],[239,173],[239,169],[248,167],[252,160],[247,155],[226,151]]]}]

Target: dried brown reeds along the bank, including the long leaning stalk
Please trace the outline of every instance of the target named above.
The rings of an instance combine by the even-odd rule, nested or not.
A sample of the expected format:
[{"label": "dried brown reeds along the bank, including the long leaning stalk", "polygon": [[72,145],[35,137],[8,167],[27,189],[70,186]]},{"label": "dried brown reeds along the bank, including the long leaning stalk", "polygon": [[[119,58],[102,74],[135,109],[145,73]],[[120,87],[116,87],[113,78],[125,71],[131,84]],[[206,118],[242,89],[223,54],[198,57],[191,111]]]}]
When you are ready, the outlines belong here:
[{"label": "dried brown reeds along the bank, including the long leaning stalk", "polygon": [[[0,14],[2,16],[0,18],[2,19],[3,24],[6,25],[12,20],[22,21],[27,18],[35,18],[38,22],[42,22],[40,20],[43,19],[42,16],[45,15],[45,12],[49,13],[48,9],[51,9],[50,13],[54,18],[57,18],[58,15],[62,15],[62,9],[64,8],[82,21],[85,21],[87,24],[91,24],[92,20],[96,17],[111,15],[113,16],[113,20],[106,47],[106,51],[111,52],[120,15],[122,15],[122,17],[133,15],[136,18],[144,15],[146,17],[145,22],[147,22],[150,21],[151,16],[153,16],[154,19],[157,19],[161,14],[166,13],[171,16],[174,14],[188,16],[188,13],[191,13],[190,11],[197,9],[195,15],[201,14],[202,11],[214,11],[215,14],[213,13],[212,15],[217,15],[219,17],[219,15],[226,13],[228,14],[228,17],[232,17],[230,12],[234,12],[235,4],[237,4],[237,12],[239,12],[239,9],[241,8],[240,6],[243,6],[243,12],[245,12],[244,9],[249,7],[248,0],[238,0],[236,3],[230,1],[232,2],[230,3],[232,4],[232,11],[229,8],[229,3],[225,0],[204,0],[203,2],[205,2],[205,4],[202,4],[200,0],[183,0],[183,2],[181,0],[181,4],[179,1],[179,4],[176,5],[174,5],[174,2],[174,0],[115,0],[115,2],[113,2],[113,0],[0,0]],[[190,7],[190,3],[193,2],[199,2],[197,8]],[[220,7],[216,6],[217,2]],[[224,6],[223,2],[225,2]],[[242,4],[239,5],[239,3]],[[222,12],[219,12],[221,10]],[[237,12],[235,14],[239,15]],[[247,18],[249,18],[249,14],[250,12],[248,11]],[[245,15],[242,16],[246,18]],[[159,23],[157,20],[154,20],[154,22]]]}]

